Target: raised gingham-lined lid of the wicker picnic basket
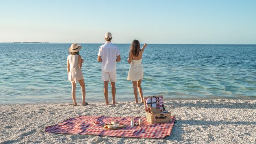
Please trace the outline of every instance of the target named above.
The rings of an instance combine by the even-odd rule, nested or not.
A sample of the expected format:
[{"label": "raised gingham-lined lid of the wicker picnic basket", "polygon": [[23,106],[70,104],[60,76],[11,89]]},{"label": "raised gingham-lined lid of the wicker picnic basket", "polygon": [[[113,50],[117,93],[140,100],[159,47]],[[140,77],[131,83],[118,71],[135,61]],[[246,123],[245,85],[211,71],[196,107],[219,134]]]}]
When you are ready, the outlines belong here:
[{"label": "raised gingham-lined lid of the wicker picnic basket", "polygon": [[156,107],[157,109],[163,110],[163,107],[162,107],[163,95],[144,97],[144,108],[145,108],[145,111],[149,113],[150,108],[147,106],[147,104],[150,105],[151,107]]}]

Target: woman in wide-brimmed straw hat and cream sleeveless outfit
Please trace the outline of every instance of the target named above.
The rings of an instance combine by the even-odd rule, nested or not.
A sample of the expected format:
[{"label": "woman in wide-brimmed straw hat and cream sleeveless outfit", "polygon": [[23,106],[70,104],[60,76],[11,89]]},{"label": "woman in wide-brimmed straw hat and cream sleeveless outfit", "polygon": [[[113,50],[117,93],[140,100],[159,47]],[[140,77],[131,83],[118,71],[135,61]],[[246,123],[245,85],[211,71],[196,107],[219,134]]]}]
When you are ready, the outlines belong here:
[{"label": "woman in wide-brimmed straw hat and cream sleeveless outfit", "polygon": [[81,50],[82,46],[79,44],[71,44],[71,47],[69,48],[69,56],[67,58],[67,71],[68,71],[68,79],[71,81],[72,85],[72,99],[74,106],[77,105],[76,103],[76,82],[79,82],[81,89],[82,89],[82,98],[83,103],[82,105],[88,105],[87,102],[85,102],[85,83],[83,79],[83,73],[82,73],[82,63],[83,59],[81,55],[79,55],[79,50]]}]

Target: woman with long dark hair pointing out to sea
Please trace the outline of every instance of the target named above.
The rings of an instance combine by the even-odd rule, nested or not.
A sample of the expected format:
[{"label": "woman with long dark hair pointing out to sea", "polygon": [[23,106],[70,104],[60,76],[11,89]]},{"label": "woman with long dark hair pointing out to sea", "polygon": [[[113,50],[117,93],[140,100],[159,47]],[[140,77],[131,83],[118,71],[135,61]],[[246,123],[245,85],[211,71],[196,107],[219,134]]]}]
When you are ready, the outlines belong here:
[{"label": "woman with long dark hair pointing out to sea", "polygon": [[138,103],[138,92],[139,96],[141,97],[141,103],[143,103],[143,92],[141,88],[141,81],[143,79],[143,66],[141,64],[142,54],[144,49],[147,47],[147,43],[144,44],[142,49],[140,49],[140,43],[138,40],[134,40],[131,45],[131,49],[129,52],[128,63],[131,64],[127,80],[132,81],[134,86],[134,96],[135,96],[135,103]]}]

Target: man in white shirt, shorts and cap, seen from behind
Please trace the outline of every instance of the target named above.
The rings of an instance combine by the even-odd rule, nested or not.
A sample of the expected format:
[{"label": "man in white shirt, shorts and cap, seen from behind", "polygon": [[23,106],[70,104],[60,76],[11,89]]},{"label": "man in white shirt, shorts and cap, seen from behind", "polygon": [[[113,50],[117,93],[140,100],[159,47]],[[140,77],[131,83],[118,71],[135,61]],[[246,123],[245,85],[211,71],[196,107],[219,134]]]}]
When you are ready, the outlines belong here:
[{"label": "man in white shirt, shorts and cap, seen from behind", "polygon": [[116,62],[121,61],[120,51],[115,44],[111,43],[111,33],[105,33],[106,43],[100,46],[98,52],[98,62],[101,62],[101,80],[104,81],[104,96],[106,105],[108,102],[108,81],[111,83],[111,92],[115,104],[115,82],[117,81]]}]

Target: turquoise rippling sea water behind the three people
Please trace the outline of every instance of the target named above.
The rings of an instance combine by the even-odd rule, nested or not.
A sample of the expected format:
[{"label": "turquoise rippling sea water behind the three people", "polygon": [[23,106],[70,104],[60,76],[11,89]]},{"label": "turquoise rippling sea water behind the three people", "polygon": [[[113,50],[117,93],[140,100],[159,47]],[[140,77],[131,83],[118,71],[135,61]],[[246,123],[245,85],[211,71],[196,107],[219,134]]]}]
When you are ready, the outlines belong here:
[{"label": "turquoise rippling sea water behind the three people", "polygon": [[[81,45],[86,99],[104,101],[101,67],[96,61],[101,44]],[[66,68],[69,46],[1,43],[0,103],[72,103]],[[130,44],[117,46],[121,62],[117,63],[116,98],[134,100],[132,82],[126,81]],[[144,96],[256,98],[256,45],[148,44],[142,63]],[[77,85],[78,102],[81,97]]]}]

